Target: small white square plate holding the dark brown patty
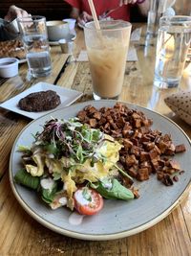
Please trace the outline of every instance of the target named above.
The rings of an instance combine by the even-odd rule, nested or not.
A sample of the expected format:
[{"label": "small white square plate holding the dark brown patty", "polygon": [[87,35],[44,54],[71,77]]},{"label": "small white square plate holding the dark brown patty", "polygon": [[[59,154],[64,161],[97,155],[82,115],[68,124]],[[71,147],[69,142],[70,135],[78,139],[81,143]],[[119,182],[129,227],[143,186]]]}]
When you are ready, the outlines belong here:
[{"label": "small white square plate holding the dark brown patty", "polygon": [[[19,100],[26,97],[30,93],[38,92],[38,91],[47,91],[47,90],[53,90],[59,95],[61,104],[58,105],[56,108],[54,108],[52,110],[48,110],[48,111],[41,111],[41,112],[28,112],[28,111],[24,111],[18,107]],[[51,83],[41,81],[41,82],[38,82],[38,83],[32,85],[32,87],[30,87],[29,89],[16,95],[15,97],[11,98],[10,100],[1,104],[0,106],[3,108],[9,109],[15,113],[21,114],[23,116],[27,116],[32,119],[36,119],[38,117],[41,117],[45,114],[52,112],[55,109],[63,108],[64,106],[73,104],[74,101],[76,101],[81,95],[82,95],[81,92],[71,90],[71,89],[66,89],[66,88],[63,88],[63,87],[60,87],[57,85],[53,85]]]}]

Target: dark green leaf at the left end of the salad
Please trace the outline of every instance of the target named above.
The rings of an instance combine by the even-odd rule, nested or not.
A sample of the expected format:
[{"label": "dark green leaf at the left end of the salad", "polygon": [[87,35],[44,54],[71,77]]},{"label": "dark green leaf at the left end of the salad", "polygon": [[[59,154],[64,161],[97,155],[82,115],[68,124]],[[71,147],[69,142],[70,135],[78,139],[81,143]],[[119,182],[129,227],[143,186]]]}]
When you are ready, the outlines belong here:
[{"label": "dark green leaf at the left end of the salad", "polygon": [[14,180],[16,183],[22,184],[33,190],[36,190],[40,184],[40,178],[38,176],[28,174],[25,169],[20,169],[16,175],[14,175]]}]

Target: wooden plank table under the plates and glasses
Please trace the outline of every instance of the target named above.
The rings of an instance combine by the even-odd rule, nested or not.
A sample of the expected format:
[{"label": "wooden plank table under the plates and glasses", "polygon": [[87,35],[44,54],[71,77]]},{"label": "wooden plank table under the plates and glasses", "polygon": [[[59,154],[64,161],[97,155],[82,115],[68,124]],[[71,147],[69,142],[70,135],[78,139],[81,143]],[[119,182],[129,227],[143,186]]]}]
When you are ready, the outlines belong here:
[{"label": "wooden plank table under the plates and glasses", "polygon": [[[138,26],[138,25],[137,25]],[[127,62],[125,81],[120,99],[157,110],[180,125],[191,138],[191,129],[173,115],[163,99],[174,90],[159,91],[153,87],[155,40],[147,47],[145,26],[141,39],[135,43],[138,61]],[[77,31],[74,54],[84,49],[83,32]],[[52,47],[53,74],[45,79],[27,78],[27,64],[19,68],[19,77],[0,81],[0,102],[32,86],[37,81],[53,83],[67,56],[59,47]],[[60,86],[82,91],[80,101],[92,99],[92,85],[87,62],[73,62],[66,68]],[[182,88],[191,89],[191,77],[185,72]],[[22,209],[14,198],[9,181],[9,158],[12,144],[19,131],[31,120],[0,108],[0,255],[191,255],[191,194],[163,221],[132,237],[109,241],[88,242],[64,237],[42,226]]]}]

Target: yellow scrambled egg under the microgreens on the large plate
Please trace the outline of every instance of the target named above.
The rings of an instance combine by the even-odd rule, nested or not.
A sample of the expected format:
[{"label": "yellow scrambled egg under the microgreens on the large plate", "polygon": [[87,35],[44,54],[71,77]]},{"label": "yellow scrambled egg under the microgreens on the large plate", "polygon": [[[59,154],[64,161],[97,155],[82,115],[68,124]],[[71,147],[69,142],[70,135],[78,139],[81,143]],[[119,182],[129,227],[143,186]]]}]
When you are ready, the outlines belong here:
[{"label": "yellow scrambled egg under the microgreens on the large plate", "polygon": [[[95,151],[97,159],[94,165],[91,165],[92,159],[87,159],[83,164],[74,162],[74,159],[62,157],[59,160],[50,158],[49,155],[39,152],[33,155],[36,166],[26,165],[28,173],[33,176],[44,174],[44,168],[48,168],[50,173],[61,175],[64,183],[64,190],[69,198],[70,208],[73,208],[73,195],[76,191],[76,184],[84,181],[96,182],[109,175],[109,172],[115,167],[119,154],[118,151],[122,146],[109,135],[105,134],[105,140],[102,145]],[[72,167],[68,171],[68,167]]]}]

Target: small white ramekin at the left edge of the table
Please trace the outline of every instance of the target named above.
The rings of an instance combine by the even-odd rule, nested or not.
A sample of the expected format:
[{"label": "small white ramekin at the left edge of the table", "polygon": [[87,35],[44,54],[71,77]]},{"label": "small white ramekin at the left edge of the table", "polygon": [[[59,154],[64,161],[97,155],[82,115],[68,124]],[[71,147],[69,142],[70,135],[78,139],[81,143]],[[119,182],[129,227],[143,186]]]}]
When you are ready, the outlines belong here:
[{"label": "small white ramekin at the left edge of the table", "polygon": [[0,77],[11,78],[18,74],[17,58],[0,58]]}]

